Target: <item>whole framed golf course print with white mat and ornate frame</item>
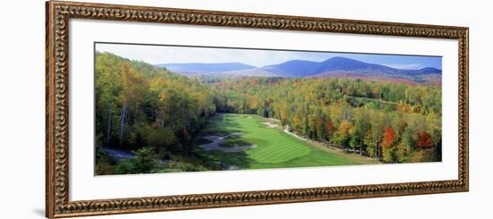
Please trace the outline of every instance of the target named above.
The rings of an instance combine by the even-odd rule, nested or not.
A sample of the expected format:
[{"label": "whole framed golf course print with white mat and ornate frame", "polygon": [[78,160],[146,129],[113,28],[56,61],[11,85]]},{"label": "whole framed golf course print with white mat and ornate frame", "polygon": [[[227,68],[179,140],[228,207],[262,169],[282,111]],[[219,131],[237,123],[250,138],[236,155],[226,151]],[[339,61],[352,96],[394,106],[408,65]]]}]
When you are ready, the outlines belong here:
[{"label": "whole framed golf course print with white mat and ornate frame", "polygon": [[47,217],[469,190],[468,28],[46,10]]}]

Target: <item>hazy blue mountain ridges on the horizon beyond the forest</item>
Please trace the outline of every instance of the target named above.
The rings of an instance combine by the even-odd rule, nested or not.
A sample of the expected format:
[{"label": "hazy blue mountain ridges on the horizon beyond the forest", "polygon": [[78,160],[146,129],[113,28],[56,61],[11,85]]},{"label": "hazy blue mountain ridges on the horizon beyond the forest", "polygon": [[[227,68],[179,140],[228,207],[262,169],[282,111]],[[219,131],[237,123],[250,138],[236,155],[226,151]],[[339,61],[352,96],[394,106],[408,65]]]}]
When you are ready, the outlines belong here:
[{"label": "hazy blue mountain ridges on the horizon beyond the forest", "polygon": [[440,85],[442,79],[442,71],[432,67],[419,70],[396,69],[345,57],[333,57],[324,62],[291,60],[260,68],[244,63],[165,63],[157,66],[186,76],[354,78],[435,85]]}]

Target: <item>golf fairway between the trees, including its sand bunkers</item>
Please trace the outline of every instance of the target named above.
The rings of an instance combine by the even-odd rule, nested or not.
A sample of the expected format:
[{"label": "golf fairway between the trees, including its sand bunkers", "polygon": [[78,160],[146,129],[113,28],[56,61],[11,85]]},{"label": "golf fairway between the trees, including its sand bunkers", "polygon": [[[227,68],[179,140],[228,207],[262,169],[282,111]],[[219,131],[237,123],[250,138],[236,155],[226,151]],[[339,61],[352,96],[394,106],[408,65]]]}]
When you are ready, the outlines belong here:
[{"label": "golf fairway between the trees, including its sand bunkers", "polygon": [[[255,114],[216,114],[201,132],[195,152],[235,169],[374,164],[368,157],[333,153],[271,122]],[[235,147],[240,149],[231,149]]]}]

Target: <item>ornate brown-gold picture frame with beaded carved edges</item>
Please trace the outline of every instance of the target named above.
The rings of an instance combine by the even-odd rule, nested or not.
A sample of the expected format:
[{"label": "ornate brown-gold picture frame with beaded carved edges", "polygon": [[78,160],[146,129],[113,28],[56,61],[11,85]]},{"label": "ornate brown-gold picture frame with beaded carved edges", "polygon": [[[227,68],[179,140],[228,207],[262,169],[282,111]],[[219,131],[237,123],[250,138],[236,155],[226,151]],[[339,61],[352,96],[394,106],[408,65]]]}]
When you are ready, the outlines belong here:
[{"label": "ornate brown-gold picture frame with beaded carved edges", "polygon": [[[464,27],[354,21],[255,13],[50,1],[46,4],[46,216],[112,215],[223,206],[377,198],[469,190],[469,29]],[[344,185],[289,190],[70,200],[69,21],[107,20],[282,29],[342,34],[441,38],[458,41],[458,175],[456,180]],[[455,95],[455,94],[444,94]],[[303,170],[300,170],[303,171]]]}]

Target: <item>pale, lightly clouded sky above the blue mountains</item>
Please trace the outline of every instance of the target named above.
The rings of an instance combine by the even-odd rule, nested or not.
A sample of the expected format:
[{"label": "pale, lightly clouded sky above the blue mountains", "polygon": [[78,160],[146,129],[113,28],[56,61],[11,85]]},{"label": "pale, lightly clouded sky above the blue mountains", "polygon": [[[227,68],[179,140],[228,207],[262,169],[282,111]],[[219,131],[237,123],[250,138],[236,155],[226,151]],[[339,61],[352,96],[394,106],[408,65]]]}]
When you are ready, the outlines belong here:
[{"label": "pale, lightly clouded sky above the blue mountains", "polygon": [[442,58],[416,55],[373,55],[332,52],[278,51],[261,49],[213,48],[189,46],[147,46],[128,44],[96,44],[96,51],[109,52],[128,59],[151,64],[160,63],[246,63],[256,67],[290,60],[322,62],[334,56],[365,63],[384,64],[398,69],[435,67],[442,69]]}]

